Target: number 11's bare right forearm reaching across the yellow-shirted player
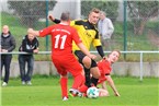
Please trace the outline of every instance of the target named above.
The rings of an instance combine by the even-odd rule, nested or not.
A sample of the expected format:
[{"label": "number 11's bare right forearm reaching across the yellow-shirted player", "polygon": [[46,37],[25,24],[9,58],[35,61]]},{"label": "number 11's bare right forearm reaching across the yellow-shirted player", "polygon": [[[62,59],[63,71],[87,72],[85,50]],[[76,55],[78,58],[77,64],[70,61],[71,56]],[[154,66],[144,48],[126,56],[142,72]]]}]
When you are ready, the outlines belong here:
[{"label": "number 11's bare right forearm reaching across the yellow-shirted player", "polygon": [[86,54],[88,57],[90,57],[91,59],[95,59],[96,56],[95,55],[91,55],[90,51],[86,48],[86,46],[82,43],[77,44],[77,46],[81,49],[81,51],[83,54]]}]

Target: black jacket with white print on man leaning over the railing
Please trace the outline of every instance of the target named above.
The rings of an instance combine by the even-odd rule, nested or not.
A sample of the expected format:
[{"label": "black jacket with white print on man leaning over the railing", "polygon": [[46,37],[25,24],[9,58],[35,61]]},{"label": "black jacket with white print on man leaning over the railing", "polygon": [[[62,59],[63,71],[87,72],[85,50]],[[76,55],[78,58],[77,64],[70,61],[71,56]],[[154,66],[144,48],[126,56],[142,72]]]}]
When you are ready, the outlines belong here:
[{"label": "black jacket with white print on man leaning over the railing", "polygon": [[33,52],[34,49],[38,48],[38,39],[35,37],[32,42],[29,40],[27,35],[23,37],[22,45],[19,51]]}]

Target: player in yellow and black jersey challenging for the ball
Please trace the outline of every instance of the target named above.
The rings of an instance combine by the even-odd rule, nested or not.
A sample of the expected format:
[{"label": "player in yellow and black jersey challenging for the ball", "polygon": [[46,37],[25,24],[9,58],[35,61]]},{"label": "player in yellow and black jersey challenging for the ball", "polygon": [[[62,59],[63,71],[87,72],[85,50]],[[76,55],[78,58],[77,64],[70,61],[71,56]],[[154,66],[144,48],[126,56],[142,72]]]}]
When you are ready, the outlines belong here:
[{"label": "player in yellow and black jersey challenging for the ball", "polygon": [[[102,58],[104,58],[102,44],[99,38],[100,37],[99,32],[96,30],[96,23],[99,21],[99,16],[100,16],[100,10],[92,9],[89,13],[88,20],[71,21],[70,25],[78,31],[79,36],[80,36],[82,43],[84,44],[84,46],[88,48],[88,50],[90,50],[90,46],[91,46],[91,44],[93,44],[93,46],[96,48],[100,56]],[[60,22],[59,20],[55,19],[53,15],[49,15],[49,19],[55,23]],[[84,92],[84,91],[87,91],[88,87],[91,86],[91,83],[96,85],[99,76],[100,76],[100,72],[96,67],[96,62],[94,60],[92,60],[91,58],[89,58],[88,56],[86,56],[77,47],[77,45],[75,45],[75,43],[72,44],[72,50],[73,50],[75,55],[78,57],[79,62],[83,66],[83,69],[84,69],[84,74],[86,74],[84,84],[86,85],[83,85],[79,90],[80,92]],[[90,79],[90,72],[92,74],[92,79]]]}]

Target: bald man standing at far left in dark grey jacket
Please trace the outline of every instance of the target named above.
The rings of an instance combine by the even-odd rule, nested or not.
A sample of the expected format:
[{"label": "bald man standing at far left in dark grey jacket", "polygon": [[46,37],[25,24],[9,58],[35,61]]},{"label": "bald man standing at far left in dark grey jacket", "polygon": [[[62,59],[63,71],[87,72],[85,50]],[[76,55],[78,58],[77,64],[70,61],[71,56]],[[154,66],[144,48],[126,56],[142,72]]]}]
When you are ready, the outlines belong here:
[{"label": "bald man standing at far left in dark grey jacket", "polygon": [[2,76],[3,67],[4,67],[5,73],[4,73],[2,86],[8,85],[9,76],[10,76],[10,64],[11,64],[11,60],[12,60],[12,55],[11,54],[7,55],[4,52],[11,52],[14,48],[15,48],[15,39],[11,35],[11,33],[9,31],[9,26],[3,25],[1,39],[0,39],[0,52],[2,52],[0,75]]}]

